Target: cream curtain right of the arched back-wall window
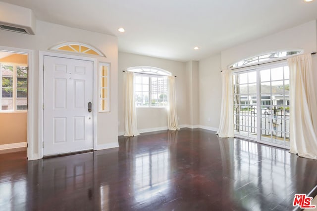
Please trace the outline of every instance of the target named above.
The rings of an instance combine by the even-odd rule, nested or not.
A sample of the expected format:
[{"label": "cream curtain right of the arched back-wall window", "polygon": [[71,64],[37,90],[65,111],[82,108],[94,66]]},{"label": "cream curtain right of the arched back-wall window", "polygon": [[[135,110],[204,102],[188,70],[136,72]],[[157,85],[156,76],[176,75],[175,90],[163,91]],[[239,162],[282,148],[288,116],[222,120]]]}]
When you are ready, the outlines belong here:
[{"label": "cream curtain right of the arched back-wall window", "polygon": [[167,111],[167,126],[168,129],[176,130],[179,129],[177,121],[177,110],[176,110],[176,88],[175,88],[175,77],[168,76],[168,111]]}]

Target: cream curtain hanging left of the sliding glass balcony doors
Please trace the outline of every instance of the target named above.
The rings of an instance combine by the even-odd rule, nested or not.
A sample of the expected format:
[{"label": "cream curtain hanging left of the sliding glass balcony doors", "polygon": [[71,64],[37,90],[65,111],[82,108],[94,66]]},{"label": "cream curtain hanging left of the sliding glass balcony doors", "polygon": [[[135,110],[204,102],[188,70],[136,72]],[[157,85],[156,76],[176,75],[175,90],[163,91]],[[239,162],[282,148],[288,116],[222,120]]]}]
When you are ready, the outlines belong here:
[{"label": "cream curtain hanging left of the sliding glass balcony doors", "polygon": [[219,137],[234,137],[233,133],[233,82],[231,70],[221,72],[221,113],[217,134]]}]

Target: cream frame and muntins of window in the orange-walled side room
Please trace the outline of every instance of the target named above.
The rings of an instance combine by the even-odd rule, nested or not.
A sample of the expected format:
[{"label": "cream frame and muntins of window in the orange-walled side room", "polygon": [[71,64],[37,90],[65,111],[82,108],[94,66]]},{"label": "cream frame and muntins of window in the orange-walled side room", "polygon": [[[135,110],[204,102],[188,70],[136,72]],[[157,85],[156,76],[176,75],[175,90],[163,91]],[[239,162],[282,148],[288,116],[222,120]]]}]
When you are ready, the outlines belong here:
[{"label": "cream frame and muntins of window in the orange-walled side room", "polygon": [[[6,66],[12,66],[13,71],[12,71],[12,97],[5,97],[8,99],[12,98],[12,110],[2,110],[2,65],[6,65]],[[27,68],[27,77],[26,77],[26,87],[22,87],[22,88],[26,88],[26,97],[21,97],[18,98],[17,97],[17,79],[18,79],[18,74],[17,74],[17,68],[18,67],[26,67]],[[0,88],[1,88],[1,97],[0,97],[0,113],[23,113],[23,112],[27,112],[28,111],[28,84],[29,84],[29,66],[27,64],[21,64],[21,63],[9,63],[9,62],[1,62],[0,63]],[[21,88],[21,87],[20,87]],[[18,99],[26,99],[26,109],[21,109],[18,110],[17,109],[17,100]]]}]

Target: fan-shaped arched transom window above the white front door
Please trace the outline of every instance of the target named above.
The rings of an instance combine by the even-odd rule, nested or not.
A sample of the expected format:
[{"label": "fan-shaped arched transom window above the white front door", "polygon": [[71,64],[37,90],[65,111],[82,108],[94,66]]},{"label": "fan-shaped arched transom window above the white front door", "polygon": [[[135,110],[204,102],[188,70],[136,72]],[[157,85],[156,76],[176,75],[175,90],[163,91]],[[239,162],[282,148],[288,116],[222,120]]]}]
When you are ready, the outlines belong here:
[{"label": "fan-shaped arched transom window above the white front door", "polygon": [[90,54],[106,57],[100,50],[96,49],[95,47],[80,42],[64,42],[51,47],[50,50],[68,51],[80,54]]}]

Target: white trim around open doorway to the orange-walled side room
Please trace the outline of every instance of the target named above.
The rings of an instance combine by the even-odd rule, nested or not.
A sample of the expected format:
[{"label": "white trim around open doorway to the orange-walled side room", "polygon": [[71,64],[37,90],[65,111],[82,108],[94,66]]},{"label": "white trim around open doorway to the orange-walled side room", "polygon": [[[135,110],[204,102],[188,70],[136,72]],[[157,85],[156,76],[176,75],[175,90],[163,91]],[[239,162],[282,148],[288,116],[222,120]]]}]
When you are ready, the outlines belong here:
[{"label": "white trim around open doorway to the orange-walled side room", "polygon": [[6,47],[0,46],[0,50],[2,51],[12,51],[12,52],[20,52],[20,53],[27,53],[28,54],[28,113],[27,113],[27,137],[26,143],[28,144],[28,160],[34,160],[34,150],[33,146],[36,144],[34,143],[34,130],[32,129],[34,126],[34,99],[35,96],[32,94],[34,93],[34,64],[33,64],[33,50],[23,49],[23,48],[16,48],[16,47]]}]

